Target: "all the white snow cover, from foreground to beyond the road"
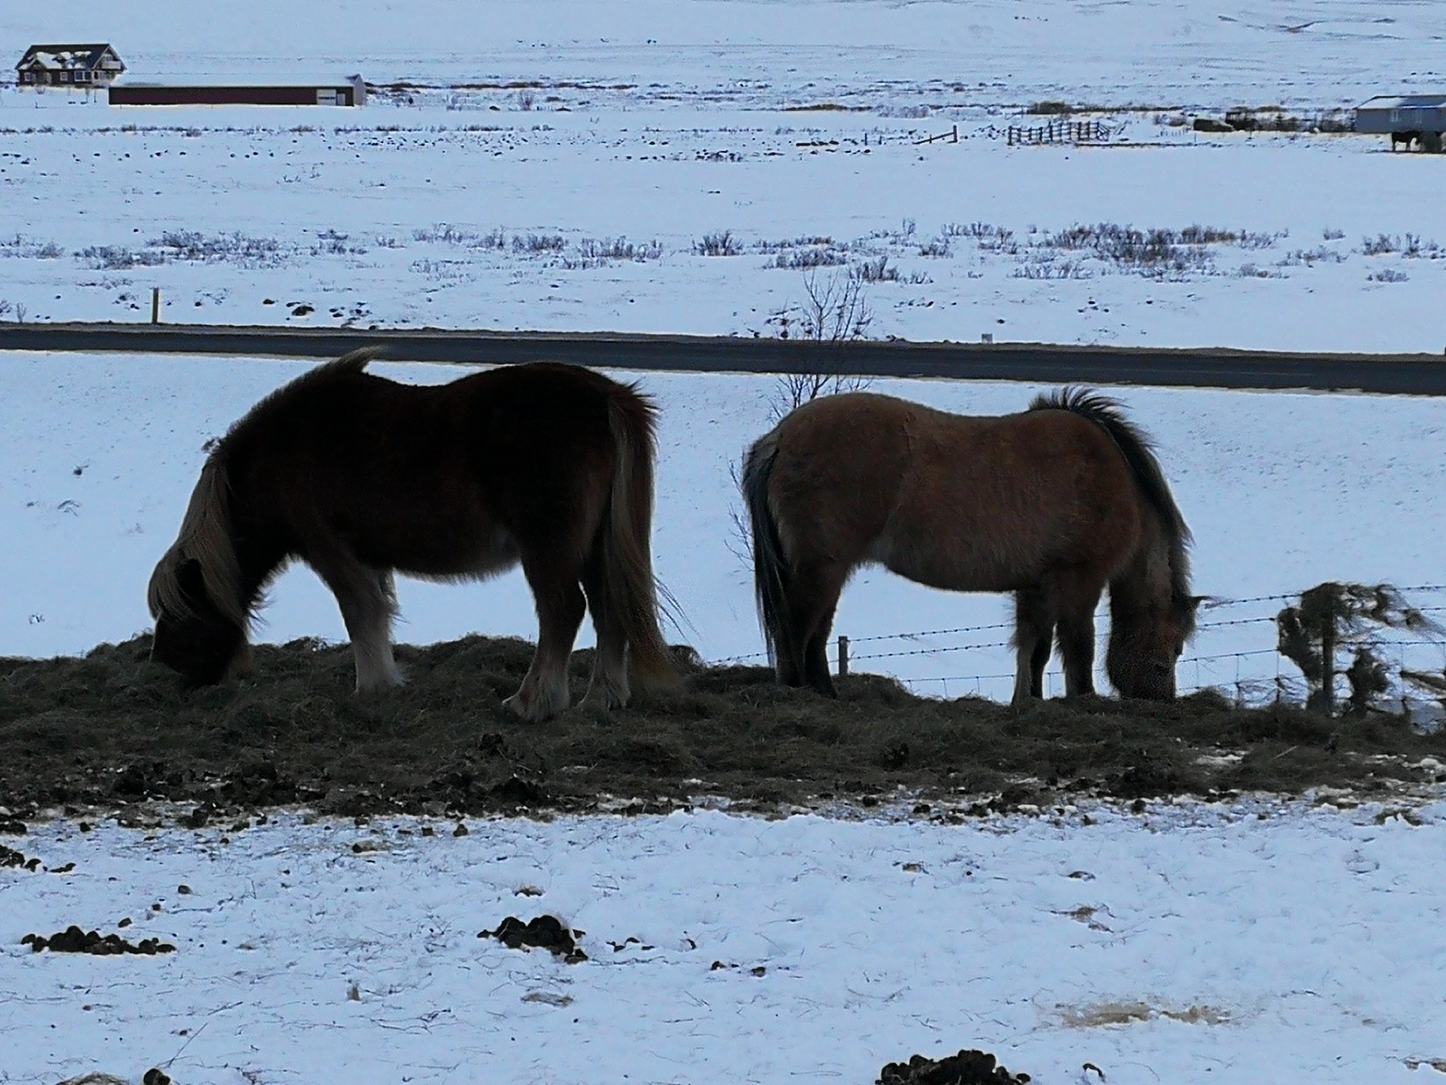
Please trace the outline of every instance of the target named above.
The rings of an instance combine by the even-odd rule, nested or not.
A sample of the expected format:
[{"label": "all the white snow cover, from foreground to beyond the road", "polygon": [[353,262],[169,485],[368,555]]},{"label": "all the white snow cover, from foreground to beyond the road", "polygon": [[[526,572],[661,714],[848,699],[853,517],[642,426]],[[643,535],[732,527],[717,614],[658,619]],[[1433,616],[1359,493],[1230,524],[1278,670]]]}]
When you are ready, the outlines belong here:
[{"label": "all the white snow cover, from foreground to beyond the road", "polygon": [[[169,323],[797,334],[813,266],[865,279],[870,336],[1436,353],[1446,159],[1178,122],[1440,90],[1443,36],[1446,6],[1407,0],[10,4],[6,56],[108,39],[134,81],[412,85],[153,111],[0,87],[0,320],[143,320],[159,286]],[[1045,100],[1100,107],[1108,145],[1008,146]],[[0,654],[143,629],[202,444],[304,367],[0,354]],[[753,655],[729,469],[777,385],[639,379],[678,639]],[[875,388],[980,414],[1038,391]],[[1254,600],[1203,615],[1184,687],[1268,686],[1278,595],[1446,582],[1442,401],[1121,398],[1194,529],[1196,590]],[[265,638],[343,637],[309,573],[273,596]],[[515,573],[401,602],[406,641],[534,631]],[[837,629],[857,668],[1002,696],[1006,621],[865,573]],[[42,868],[0,868],[0,1082],[869,1082],[967,1046],[1044,1085],[1429,1082],[1442,807],[1343,806],[36,825],[6,841]],[[587,962],[476,937],[544,911]],[[20,945],[72,923],[178,950]]]}]

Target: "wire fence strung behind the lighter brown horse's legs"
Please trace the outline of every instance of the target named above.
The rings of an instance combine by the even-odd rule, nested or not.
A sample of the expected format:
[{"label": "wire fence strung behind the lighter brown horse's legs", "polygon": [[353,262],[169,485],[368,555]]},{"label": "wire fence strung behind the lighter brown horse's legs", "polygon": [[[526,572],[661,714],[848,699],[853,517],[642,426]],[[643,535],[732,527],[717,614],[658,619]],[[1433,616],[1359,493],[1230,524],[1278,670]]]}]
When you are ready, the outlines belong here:
[{"label": "wire fence strung behind the lighter brown horse's legs", "polygon": [[[1446,625],[1446,584],[1414,584],[1395,589],[1411,600],[1416,610],[1433,624]],[[1176,667],[1181,694],[1213,689],[1241,706],[1261,706],[1274,702],[1304,703],[1310,687],[1300,668],[1281,652],[1278,615],[1287,606],[1300,603],[1301,592],[1261,595],[1242,599],[1207,599],[1200,609],[1196,635]],[[1424,605],[1423,605],[1424,603]],[[839,674],[850,671],[912,670],[899,667],[904,660],[938,660],[940,674],[899,677],[914,693],[933,697],[993,696],[1008,699],[1014,671],[969,673],[967,667],[947,667],[953,660],[967,663],[970,652],[998,651],[1011,647],[1014,622],[963,625],[949,629],[915,629],[908,632],[839,635],[833,644],[830,664]],[[1102,606],[1096,616],[1096,661],[1102,661],[1109,637],[1109,613]],[[1388,694],[1378,699],[1379,707],[1404,710],[1413,716],[1439,719],[1446,712],[1446,689],[1440,696],[1411,686],[1406,676],[1442,676],[1446,687],[1446,635],[1440,631],[1372,628],[1369,637],[1343,638],[1336,648],[1336,681],[1333,703],[1348,700],[1345,668],[1352,652],[1368,647],[1390,676]],[[995,657],[998,658],[998,655]],[[768,663],[765,652],[719,660],[719,665]],[[1012,663],[1012,660],[1011,660]],[[1105,687],[1105,683],[1100,683]],[[1045,671],[1045,696],[1064,692],[1057,655]]]}]

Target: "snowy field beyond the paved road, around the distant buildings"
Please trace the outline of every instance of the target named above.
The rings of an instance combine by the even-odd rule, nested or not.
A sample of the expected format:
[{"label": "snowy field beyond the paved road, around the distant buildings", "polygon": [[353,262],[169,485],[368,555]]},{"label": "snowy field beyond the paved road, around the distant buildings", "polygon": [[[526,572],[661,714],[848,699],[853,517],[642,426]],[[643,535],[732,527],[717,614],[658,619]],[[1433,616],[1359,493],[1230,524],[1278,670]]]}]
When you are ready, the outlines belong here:
[{"label": "snowy field beyond the paved road, around the distant buildings", "polygon": [[[872,279],[870,336],[1443,347],[1443,159],[1183,127],[1430,88],[1436,6],[616,7],[363,4],[302,62],[259,59],[250,4],[188,49],[147,6],[113,38],[126,78],[424,85],[360,110],[0,93],[0,320],[143,320],[159,286],[175,323],[797,334],[814,266]],[[98,20],[14,13],[0,42]],[[1041,100],[1100,107],[1109,140],[1008,146]]]}]

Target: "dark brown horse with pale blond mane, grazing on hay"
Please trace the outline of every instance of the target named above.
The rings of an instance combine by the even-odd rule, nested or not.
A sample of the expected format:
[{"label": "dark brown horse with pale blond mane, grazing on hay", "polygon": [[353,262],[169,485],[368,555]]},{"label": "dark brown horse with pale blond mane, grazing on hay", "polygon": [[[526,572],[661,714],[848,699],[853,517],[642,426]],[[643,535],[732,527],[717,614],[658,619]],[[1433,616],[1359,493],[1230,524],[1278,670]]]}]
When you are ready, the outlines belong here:
[{"label": "dark brown horse with pale blond mane, grazing on hay", "polygon": [[649,401],[548,363],[402,385],[364,372],[376,353],[292,380],[217,444],[150,577],[152,658],[195,684],[249,670],[262,590],[301,558],[337,596],[357,690],[396,686],[393,570],[463,580],[521,561],[539,637],[506,700],[513,712],[567,707],[567,660],[589,609],[589,700],[628,702],[629,654],[635,678],[669,683],[649,542]]}]

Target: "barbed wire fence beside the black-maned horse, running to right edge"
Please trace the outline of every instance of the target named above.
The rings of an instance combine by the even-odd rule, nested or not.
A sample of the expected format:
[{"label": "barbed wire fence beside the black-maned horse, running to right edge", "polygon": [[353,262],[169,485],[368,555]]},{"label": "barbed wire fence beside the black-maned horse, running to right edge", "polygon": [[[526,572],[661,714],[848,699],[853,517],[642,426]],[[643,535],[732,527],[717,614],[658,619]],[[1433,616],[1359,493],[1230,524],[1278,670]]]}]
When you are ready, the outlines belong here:
[{"label": "barbed wire fence beside the black-maned horse, running to right edge", "polygon": [[[1303,589],[1304,590],[1304,589]],[[1401,596],[1411,599],[1439,599],[1440,603],[1416,606],[1424,615],[1446,615],[1446,584],[1411,584],[1395,589]],[[1288,605],[1299,603],[1301,592],[1280,592],[1274,595],[1246,596],[1241,599],[1210,597],[1202,605],[1202,619],[1196,624],[1196,635],[1190,648],[1180,658],[1176,668],[1178,692],[1181,694],[1213,689],[1229,697],[1236,705],[1259,706],[1272,702],[1303,703],[1309,693],[1309,683],[1300,668],[1281,654],[1278,645],[1277,615]],[[1216,616],[1239,613],[1242,610],[1268,609],[1268,613],[1242,613],[1238,618]],[[1242,631],[1257,626],[1259,635],[1248,634],[1249,647],[1212,651],[1212,642],[1222,639],[1239,642]],[[1014,622],[988,622],[980,625],[960,625],[944,629],[914,629],[891,634],[870,634],[865,637],[849,637],[840,634],[830,647],[829,664],[839,674],[847,674],[857,664],[872,664],[865,670],[879,670],[888,673],[892,664],[911,657],[938,657],[940,660],[957,658],[959,652],[989,651],[1008,648],[1009,634]],[[1109,635],[1108,608],[1100,608],[1096,615],[1096,637],[1099,644],[1105,644]],[[956,644],[927,644],[938,638],[964,638]],[[912,644],[918,647],[892,647],[894,644]],[[860,645],[869,645],[859,652]],[[1349,645],[1345,645],[1349,647]],[[879,648],[878,651],[875,648]],[[1381,661],[1390,674],[1395,677],[1392,683],[1400,690],[1401,673],[1440,673],[1446,678],[1446,638],[1413,635],[1408,631],[1382,628],[1369,639],[1374,657]],[[1098,652],[1102,658],[1103,652]],[[766,652],[750,652],[746,655],[732,655],[713,661],[713,665],[765,665]],[[1343,674],[1336,676],[1336,681]],[[988,696],[992,683],[1012,683],[1014,671],[977,673],[970,674],[963,668],[959,673],[937,674],[927,677],[899,677],[905,686],[923,696],[960,697]],[[1057,660],[1051,660],[1051,668],[1045,671],[1045,696],[1063,693],[1063,674]],[[1397,700],[1404,697],[1397,693]],[[1423,699],[1429,700],[1429,699]],[[1420,703],[1420,702],[1419,702]],[[1411,705],[1403,702],[1400,707],[1411,710]],[[1437,702],[1440,707],[1440,702]]]}]

